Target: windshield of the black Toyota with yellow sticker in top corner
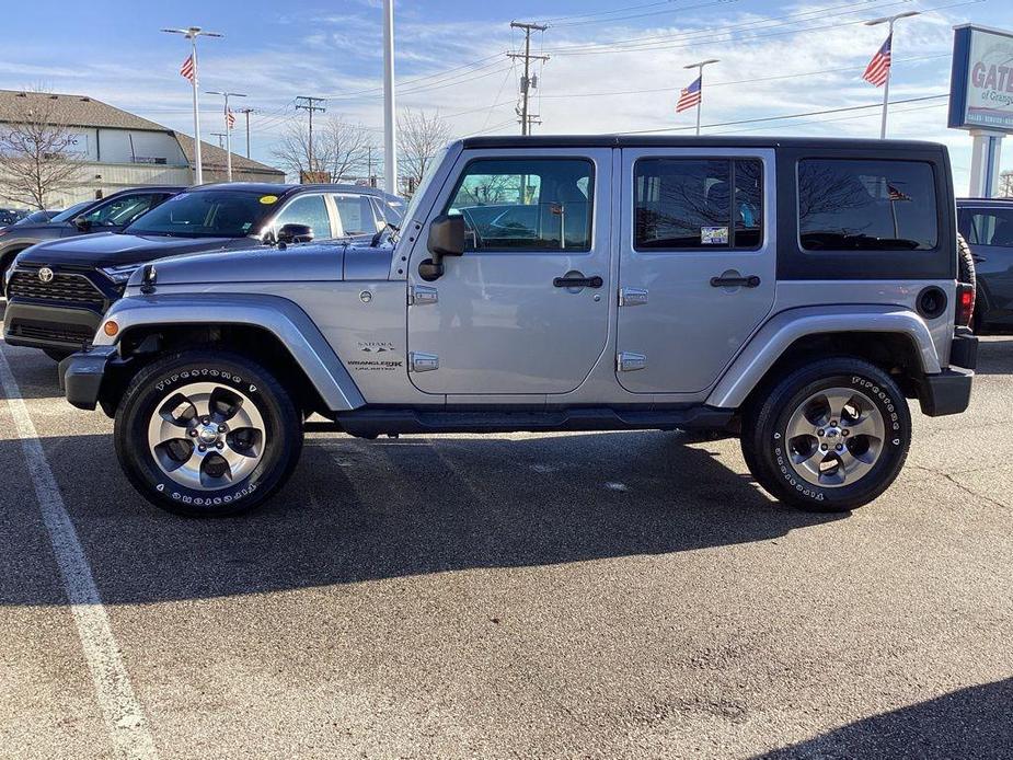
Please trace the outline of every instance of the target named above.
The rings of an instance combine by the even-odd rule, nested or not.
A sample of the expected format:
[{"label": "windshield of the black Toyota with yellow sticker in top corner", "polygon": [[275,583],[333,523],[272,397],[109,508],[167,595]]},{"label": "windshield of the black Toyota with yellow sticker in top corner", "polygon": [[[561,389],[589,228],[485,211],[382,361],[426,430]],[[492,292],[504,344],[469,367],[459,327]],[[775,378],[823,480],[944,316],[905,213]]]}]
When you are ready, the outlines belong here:
[{"label": "windshield of the black Toyota with yellow sticker in top corner", "polygon": [[254,234],[278,197],[250,191],[181,193],[130,224],[127,234],[177,238],[244,238]]}]

